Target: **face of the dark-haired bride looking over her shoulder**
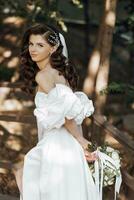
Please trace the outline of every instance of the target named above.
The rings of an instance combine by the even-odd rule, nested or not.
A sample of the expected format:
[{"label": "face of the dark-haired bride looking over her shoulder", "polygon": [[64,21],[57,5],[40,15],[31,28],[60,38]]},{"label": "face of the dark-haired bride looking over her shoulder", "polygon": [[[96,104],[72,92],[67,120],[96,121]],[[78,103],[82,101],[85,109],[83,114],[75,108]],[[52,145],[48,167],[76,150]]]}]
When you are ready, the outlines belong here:
[{"label": "face of the dark-haired bride looking over her shoulder", "polygon": [[41,35],[30,35],[29,54],[34,62],[48,59],[53,51],[54,47],[50,46]]}]

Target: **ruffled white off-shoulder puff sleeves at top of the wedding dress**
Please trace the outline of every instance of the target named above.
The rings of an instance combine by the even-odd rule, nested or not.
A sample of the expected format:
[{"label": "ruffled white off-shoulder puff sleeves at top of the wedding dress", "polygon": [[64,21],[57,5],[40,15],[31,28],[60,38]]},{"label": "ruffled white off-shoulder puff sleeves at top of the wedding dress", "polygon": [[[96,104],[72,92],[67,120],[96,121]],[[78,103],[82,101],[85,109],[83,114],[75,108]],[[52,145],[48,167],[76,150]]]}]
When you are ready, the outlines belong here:
[{"label": "ruffled white off-shoulder puff sleeves at top of the wedding dress", "polygon": [[60,128],[65,118],[75,119],[77,124],[94,112],[92,101],[83,92],[73,92],[63,84],[56,84],[48,94],[35,97],[34,115],[45,129]]}]

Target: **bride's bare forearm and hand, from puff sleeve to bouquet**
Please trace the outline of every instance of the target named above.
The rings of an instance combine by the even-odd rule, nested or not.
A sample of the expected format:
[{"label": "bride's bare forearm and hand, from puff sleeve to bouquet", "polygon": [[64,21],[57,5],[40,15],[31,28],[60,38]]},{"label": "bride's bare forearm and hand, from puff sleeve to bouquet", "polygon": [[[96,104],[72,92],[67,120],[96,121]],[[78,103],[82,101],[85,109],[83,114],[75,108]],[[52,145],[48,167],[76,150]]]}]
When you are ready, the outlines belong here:
[{"label": "bride's bare forearm and hand, from puff sleeve to bouquet", "polygon": [[86,159],[88,161],[96,160],[95,153],[89,153],[86,150],[86,148],[88,147],[88,144],[91,144],[91,143],[83,137],[83,134],[81,134],[82,129],[79,130],[75,120],[74,119],[69,120],[69,119],[65,118],[64,126],[68,130],[68,132],[72,136],[74,136],[76,138],[76,140],[80,143],[80,145],[83,147]]}]

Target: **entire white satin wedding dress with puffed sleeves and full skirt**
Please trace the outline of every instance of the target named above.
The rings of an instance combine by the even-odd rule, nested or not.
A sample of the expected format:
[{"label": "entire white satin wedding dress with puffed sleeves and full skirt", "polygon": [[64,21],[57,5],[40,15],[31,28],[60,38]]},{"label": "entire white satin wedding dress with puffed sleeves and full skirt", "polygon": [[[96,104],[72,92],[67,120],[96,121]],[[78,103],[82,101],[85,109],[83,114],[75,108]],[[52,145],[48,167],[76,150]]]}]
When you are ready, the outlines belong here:
[{"label": "entire white satin wedding dress with puffed sleeves and full skirt", "polygon": [[23,200],[97,200],[83,148],[63,126],[65,117],[80,125],[92,101],[58,83],[48,94],[38,91],[35,105],[38,143],[24,157]]}]

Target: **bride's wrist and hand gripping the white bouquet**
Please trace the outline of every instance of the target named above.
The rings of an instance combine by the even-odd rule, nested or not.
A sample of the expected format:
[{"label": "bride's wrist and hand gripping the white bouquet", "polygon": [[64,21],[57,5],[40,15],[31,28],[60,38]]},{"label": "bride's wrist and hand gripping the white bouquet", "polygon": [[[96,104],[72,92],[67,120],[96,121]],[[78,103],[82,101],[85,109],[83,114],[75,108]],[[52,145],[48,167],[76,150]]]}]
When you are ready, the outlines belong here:
[{"label": "bride's wrist and hand gripping the white bouquet", "polygon": [[82,148],[84,149],[84,153],[85,153],[85,157],[87,159],[88,162],[92,162],[95,161],[97,159],[97,154],[96,151],[94,152],[89,152],[87,150],[88,148],[88,144],[91,145],[91,142],[89,142],[87,139],[85,139],[84,137],[79,137],[77,138],[78,142],[81,144]]}]

